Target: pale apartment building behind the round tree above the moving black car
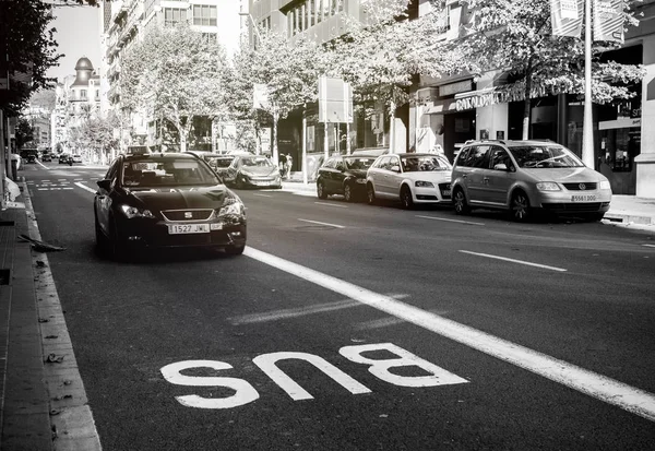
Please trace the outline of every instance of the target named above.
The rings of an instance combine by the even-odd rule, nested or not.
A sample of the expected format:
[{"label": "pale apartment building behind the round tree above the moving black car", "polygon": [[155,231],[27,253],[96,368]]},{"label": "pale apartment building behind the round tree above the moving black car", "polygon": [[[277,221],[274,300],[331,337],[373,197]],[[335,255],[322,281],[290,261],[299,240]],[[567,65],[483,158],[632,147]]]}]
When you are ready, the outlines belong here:
[{"label": "pale apartment building behind the round tree above the moving black car", "polygon": [[[238,44],[240,0],[105,0],[100,5],[103,23],[104,80],[108,110],[120,111],[121,61],[130,47],[148,29],[187,22],[195,31],[215,37],[231,54]],[[119,130],[121,144],[162,143],[162,128],[145,111],[132,111]],[[195,140],[204,149],[215,146],[209,121],[195,128]]]}]

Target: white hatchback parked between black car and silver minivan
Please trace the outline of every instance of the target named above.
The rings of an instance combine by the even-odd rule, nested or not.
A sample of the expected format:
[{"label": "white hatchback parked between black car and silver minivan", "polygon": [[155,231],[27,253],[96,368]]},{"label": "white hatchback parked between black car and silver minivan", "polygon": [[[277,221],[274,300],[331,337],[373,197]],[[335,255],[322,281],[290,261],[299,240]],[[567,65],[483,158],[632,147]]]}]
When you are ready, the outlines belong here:
[{"label": "white hatchback parked between black car and silver minivan", "polygon": [[418,203],[449,203],[451,170],[452,165],[441,154],[381,155],[366,175],[368,202],[400,200],[405,209]]}]

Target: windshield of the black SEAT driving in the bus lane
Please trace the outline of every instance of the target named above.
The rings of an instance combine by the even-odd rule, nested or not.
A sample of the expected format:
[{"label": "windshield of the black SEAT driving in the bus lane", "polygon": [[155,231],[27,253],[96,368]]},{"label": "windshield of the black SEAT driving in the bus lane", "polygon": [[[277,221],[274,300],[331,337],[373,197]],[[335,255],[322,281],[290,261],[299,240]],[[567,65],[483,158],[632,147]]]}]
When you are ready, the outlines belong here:
[{"label": "windshield of the black SEAT driving in the bus lane", "polygon": [[218,185],[218,177],[193,158],[133,159],[123,163],[122,183],[126,187],[160,187],[183,185]]}]

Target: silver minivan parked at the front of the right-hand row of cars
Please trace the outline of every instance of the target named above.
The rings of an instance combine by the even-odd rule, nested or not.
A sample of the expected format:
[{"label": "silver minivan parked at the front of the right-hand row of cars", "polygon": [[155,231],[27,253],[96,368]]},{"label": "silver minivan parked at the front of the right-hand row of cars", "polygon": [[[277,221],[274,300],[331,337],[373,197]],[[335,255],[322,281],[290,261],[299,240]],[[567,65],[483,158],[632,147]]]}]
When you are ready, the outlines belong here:
[{"label": "silver minivan parked at the front of the right-hand row of cars", "polygon": [[535,209],[600,221],[609,210],[609,180],[551,141],[474,141],[452,170],[455,213],[502,209],[526,221]]}]

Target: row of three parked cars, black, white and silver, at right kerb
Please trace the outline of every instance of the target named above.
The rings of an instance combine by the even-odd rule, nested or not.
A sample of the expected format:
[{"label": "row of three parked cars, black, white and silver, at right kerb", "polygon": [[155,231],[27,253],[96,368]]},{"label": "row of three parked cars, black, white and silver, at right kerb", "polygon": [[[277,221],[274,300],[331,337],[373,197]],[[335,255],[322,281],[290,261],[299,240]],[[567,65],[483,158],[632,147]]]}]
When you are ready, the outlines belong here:
[{"label": "row of three parked cars, black, white and silver, at right kerb", "polygon": [[452,204],[456,214],[474,207],[509,211],[527,221],[536,211],[599,221],[609,210],[609,180],[567,147],[550,141],[473,141],[455,156],[386,153],[378,157],[333,156],[319,168],[317,193],[343,194],[368,203],[396,200]]}]

